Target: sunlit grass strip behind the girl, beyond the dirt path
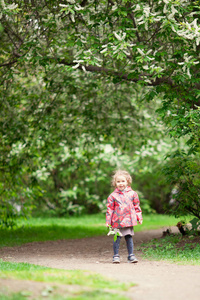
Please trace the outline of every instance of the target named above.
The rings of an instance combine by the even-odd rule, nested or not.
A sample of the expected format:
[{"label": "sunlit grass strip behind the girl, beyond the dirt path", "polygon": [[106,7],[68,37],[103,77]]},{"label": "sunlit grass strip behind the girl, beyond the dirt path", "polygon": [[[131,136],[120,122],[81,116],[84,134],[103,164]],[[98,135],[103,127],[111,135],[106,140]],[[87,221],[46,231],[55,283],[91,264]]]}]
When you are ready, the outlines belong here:
[{"label": "sunlit grass strip behind the girl, beyond the dirt path", "polygon": [[[144,216],[142,225],[135,226],[135,232],[169,227],[177,219],[167,215]],[[15,246],[34,241],[79,239],[106,235],[105,214],[66,218],[30,218],[19,220],[13,229],[0,228],[0,247]]]}]

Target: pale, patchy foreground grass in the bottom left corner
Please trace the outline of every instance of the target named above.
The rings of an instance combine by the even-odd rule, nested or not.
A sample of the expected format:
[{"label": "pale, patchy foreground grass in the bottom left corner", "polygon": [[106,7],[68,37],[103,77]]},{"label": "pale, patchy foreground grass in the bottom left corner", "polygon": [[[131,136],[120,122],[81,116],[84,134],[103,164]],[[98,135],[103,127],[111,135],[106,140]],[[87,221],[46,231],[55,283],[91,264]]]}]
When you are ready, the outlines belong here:
[{"label": "pale, patchy foreground grass in the bottom left corner", "polygon": [[[48,299],[128,299],[122,297],[120,292],[127,291],[133,284],[125,284],[118,281],[110,280],[99,274],[82,270],[60,270],[52,269],[28,263],[11,263],[0,260],[0,278],[11,278],[18,280],[30,280],[36,282],[45,282],[50,285],[45,292]],[[68,295],[56,295],[59,288],[55,288],[56,284],[66,286],[79,286],[79,288],[68,293]],[[86,289],[88,288],[88,290]],[[118,295],[113,294],[110,290],[118,292]],[[52,294],[52,291],[54,293]],[[0,293],[0,299],[24,299],[24,292],[8,294]],[[38,299],[38,298],[37,298]]]}]

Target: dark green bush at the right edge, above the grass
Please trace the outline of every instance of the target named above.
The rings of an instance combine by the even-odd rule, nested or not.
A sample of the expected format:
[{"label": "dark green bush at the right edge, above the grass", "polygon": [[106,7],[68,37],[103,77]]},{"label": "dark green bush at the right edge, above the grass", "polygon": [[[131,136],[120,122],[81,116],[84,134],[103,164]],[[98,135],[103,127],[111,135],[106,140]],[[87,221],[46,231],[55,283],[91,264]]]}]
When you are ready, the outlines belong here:
[{"label": "dark green bush at the right edge, above the grass", "polygon": [[177,192],[171,200],[170,213],[175,216],[191,214],[200,219],[200,159],[199,154],[186,155],[177,151],[168,157],[163,169],[167,182]]}]

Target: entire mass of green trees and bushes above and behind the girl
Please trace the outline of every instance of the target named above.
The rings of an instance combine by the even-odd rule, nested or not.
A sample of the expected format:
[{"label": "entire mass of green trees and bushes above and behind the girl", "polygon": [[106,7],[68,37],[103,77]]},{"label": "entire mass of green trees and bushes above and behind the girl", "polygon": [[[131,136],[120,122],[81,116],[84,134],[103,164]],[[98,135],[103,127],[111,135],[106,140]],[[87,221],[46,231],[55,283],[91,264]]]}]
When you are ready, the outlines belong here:
[{"label": "entire mass of green trees and bushes above and behind the girl", "polygon": [[104,211],[116,168],[200,218],[199,4],[0,1],[2,225]]}]

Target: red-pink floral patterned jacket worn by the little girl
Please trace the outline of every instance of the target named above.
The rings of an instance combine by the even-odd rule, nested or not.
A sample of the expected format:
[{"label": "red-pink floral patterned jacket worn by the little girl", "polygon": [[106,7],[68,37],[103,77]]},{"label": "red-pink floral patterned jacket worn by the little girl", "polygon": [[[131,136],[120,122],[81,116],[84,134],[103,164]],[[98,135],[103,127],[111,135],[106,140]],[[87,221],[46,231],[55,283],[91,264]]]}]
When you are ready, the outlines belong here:
[{"label": "red-pink floral patterned jacket worn by the little girl", "polygon": [[118,188],[108,197],[106,224],[113,228],[131,227],[142,220],[142,210],[138,194],[126,187],[124,191]]}]

